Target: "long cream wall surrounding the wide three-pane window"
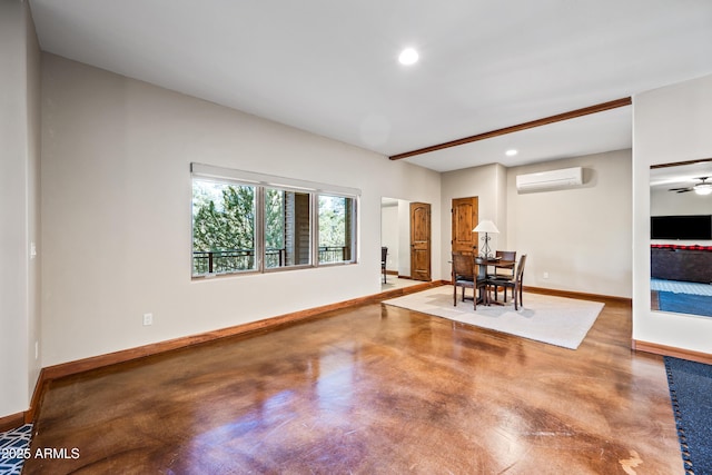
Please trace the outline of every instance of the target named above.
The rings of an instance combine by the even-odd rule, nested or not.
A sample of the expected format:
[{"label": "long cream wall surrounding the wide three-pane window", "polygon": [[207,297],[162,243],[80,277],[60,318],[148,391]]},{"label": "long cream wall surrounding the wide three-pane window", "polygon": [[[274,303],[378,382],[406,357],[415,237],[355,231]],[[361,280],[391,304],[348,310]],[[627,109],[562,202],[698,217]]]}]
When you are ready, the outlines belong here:
[{"label": "long cream wall surrounding the wide three-pane window", "polygon": [[[380,197],[441,220],[435,171],[57,56],[42,66],[43,366],[376,294]],[[360,264],[191,281],[191,161],[360,188]],[[439,243],[434,227],[433,279]]]}]

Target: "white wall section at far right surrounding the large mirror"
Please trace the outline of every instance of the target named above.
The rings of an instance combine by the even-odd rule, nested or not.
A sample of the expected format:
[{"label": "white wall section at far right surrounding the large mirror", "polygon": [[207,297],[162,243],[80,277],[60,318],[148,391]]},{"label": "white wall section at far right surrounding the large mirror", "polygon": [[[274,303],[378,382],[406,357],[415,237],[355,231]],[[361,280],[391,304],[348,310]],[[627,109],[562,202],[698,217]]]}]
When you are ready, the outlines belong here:
[{"label": "white wall section at far right surrounding the large mirror", "polygon": [[712,76],[633,98],[633,339],[712,354],[712,318],[650,309],[650,166],[712,157]]}]

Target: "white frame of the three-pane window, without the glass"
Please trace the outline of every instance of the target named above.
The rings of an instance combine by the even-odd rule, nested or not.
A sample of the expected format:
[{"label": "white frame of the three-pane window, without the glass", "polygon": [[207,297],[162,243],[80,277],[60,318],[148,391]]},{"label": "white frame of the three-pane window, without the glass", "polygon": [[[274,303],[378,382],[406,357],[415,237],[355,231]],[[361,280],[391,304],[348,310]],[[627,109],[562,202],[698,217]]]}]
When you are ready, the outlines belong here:
[{"label": "white frame of the three-pane window, without the glass", "polygon": [[[196,179],[227,184],[235,186],[248,186],[255,188],[255,269],[234,270],[225,273],[194,274],[194,232],[195,215],[192,211],[192,189]],[[309,263],[293,266],[267,267],[266,263],[266,191],[277,189],[286,192],[308,194],[309,196]],[[319,267],[347,266],[358,264],[358,212],[360,201],[360,190],[356,188],[319,184],[315,181],[298,180],[293,178],[276,177],[251,171],[244,171],[230,168],[216,167],[210,165],[190,164],[190,189],[191,189],[191,212],[190,212],[190,276],[194,280],[201,280],[225,276],[244,276],[256,274],[281,273],[288,270],[299,270]],[[350,239],[352,255],[348,260],[319,263],[319,196],[343,197],[352,200],[350,234],[346,236]],[[285,243],[286,245],[286,243]],[[348,243],[346,244],[348,245]]]}]

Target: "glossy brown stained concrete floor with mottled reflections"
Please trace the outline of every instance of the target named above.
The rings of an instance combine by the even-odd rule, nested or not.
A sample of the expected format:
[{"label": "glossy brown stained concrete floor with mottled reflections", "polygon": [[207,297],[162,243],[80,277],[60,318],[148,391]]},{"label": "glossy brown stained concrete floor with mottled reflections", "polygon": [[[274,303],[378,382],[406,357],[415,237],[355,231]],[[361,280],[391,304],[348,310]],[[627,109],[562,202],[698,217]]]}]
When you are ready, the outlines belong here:
[{"label": "glossy brown stained concrete floor with mottled reflections", "polygon": [[[26,474],[684,473],[662,357],[363,305],[56,379]],[[77,455],[73,457],[73,455]]]}]

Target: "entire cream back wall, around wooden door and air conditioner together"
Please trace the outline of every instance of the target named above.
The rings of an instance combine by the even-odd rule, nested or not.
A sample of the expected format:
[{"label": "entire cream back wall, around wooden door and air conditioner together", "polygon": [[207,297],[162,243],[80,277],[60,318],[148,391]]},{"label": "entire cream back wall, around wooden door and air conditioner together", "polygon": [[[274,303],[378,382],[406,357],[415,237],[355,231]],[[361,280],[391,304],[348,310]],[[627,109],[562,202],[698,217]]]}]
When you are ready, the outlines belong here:
[{"label": "entire cream back wall, around wooden door and air conditioner together", "polygon": [[[516,191],[517,175],[568,167],[584,168],[584,186]],[[501,231],[492,236],[491,248],[527,254],[525,285],[631,297],[630,182],[631,150],[449,171],[442,182],[443,239],[451,239],[452,199],[477,196],[479,220],[492,219]],[[444,245],[443,275],[449,271],[448,253]]]}]

